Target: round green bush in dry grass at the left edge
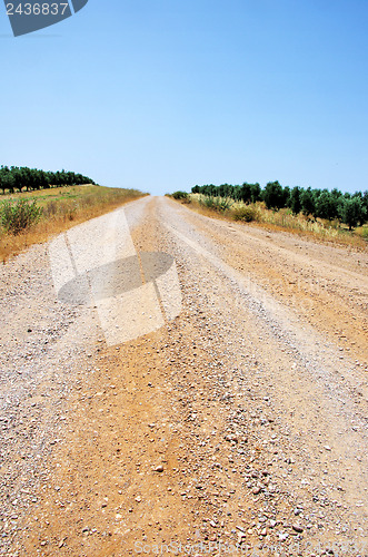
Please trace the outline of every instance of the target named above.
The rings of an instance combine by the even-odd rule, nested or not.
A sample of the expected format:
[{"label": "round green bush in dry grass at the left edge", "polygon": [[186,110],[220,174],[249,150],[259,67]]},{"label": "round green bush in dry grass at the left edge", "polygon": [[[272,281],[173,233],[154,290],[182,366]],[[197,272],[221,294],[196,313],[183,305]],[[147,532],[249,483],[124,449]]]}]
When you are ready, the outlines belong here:
[{"label": "round green bush in dry grass at the left edge", "polygon": [[19,199],[16,204],[7,201],[0,206],[2,228],[14,236],[37,224],[41,214],[42,211],[37,206],[36,201],[28,203],[26,199]]}]

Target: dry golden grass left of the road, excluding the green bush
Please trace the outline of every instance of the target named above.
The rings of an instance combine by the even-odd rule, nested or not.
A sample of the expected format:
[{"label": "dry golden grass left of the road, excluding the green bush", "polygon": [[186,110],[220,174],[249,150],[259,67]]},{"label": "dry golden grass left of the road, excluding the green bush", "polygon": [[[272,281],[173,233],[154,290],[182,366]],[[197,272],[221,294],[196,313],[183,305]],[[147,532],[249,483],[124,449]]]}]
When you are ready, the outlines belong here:
[{"label": "dry golden grass left of the road, excluding the green bush", "polygon": [[30,203],[36,201],[42,214],[38,224],[21,234],[7,234],[0,229],[0,260],[6,262],[9,256],[17,255],[32,244],[47,242],[52,235],[113,211],[143,195],[147,194],[137,189],[92,185],[2,195],[0,196],[0,212],[1,202],[10,201],[16,204],[19,199],[27,199]]}]

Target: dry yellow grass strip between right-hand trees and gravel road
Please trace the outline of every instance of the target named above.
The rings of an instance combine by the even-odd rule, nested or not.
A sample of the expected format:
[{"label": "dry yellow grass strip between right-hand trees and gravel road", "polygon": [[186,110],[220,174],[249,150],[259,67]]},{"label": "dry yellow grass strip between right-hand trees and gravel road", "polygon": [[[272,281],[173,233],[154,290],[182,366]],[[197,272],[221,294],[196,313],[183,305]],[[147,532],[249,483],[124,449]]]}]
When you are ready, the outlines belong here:
[{"label": "dry yellow grass strip between right-hand trees and gravel road", "polygon": [[338,221],[311,219],[299,214],[294,215],[290,209],[269,211],[265,203],[246,205],[242,202],[217,198],[215,204],[208,203],[201,194],[190,194],[188,199],[181,201],[203,215],[216,216],[226,221],[248,222],[253,226],[266,227],[270,231],[287,231],[294,234],[312,236],[316,240],[339,243],[366,250],[368,241],[368,225],[349,232],[347,226]]}]

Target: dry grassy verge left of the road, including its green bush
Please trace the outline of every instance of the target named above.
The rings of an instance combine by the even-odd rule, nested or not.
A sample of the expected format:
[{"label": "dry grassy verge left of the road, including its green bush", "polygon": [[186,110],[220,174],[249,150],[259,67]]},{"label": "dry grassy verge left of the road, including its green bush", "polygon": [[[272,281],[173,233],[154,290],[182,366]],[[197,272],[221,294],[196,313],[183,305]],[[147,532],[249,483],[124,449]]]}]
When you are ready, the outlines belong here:
[{"label": "dry grassy verge left of the road, including its green bush", "polygon": [[52,235],[142,197],[137,189],[97,185],[8,194],[0,201],[0,261]]}]

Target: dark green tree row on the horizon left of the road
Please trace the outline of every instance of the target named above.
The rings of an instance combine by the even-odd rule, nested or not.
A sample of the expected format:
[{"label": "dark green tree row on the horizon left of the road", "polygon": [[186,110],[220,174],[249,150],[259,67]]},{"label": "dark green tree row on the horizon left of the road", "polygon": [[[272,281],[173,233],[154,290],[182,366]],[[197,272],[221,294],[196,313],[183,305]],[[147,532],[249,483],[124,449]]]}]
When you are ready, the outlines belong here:
[{"label": "dark green tree row on the horizon left of the road", "polygon": [[0,190],[14,193],[27,189],[47,189],[60,186],[77,186],[82,184],[95,184],[88,176],[81,174],[61,172],[44,172],[27,166],[18,167],[1,166],[0,168]]}]

